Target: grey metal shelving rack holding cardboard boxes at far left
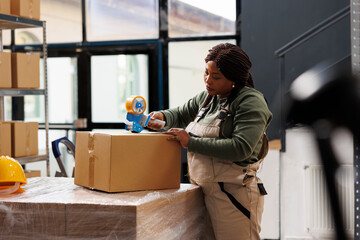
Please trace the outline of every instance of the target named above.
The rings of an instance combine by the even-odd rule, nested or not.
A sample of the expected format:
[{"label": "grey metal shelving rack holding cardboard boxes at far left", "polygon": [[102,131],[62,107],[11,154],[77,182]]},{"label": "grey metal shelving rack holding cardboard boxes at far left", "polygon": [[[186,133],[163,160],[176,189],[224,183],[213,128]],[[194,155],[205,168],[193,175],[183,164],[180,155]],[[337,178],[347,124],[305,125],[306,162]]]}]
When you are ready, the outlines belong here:
[{"label": "grey metal shelving rack holding cardboard boxes at far left", "polygon": [[49,123],[48,123],[48,90],[47,90],[47,45],[46,45],[46,22],[29,18],[23,18],[13,15],[0,14],[0,51],[3,51],[2,30],[15,30],[21,28],[43,29],[43,46],[42,57],[44,65],[44,89],[0,89],[0,121],[5,119],[4,97],[5,96],[26,96],[26,95],[43,95],[45,101],[45,154],[17,158],[21,164],[32,163],[37,161],[46,161],[46,174],[50,176],[49,161]]}]

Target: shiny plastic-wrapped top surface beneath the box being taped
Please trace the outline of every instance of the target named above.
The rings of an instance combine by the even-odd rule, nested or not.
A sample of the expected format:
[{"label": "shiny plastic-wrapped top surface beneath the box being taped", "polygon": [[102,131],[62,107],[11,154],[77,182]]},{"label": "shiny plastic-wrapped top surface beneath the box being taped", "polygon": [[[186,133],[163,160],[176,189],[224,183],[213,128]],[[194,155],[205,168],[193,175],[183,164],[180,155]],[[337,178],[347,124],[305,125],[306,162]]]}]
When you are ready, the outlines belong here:
[{"label": "shiny plastic-wrapped top surface beneath the box being taped", "polygon": [[28,178],[24,192],[0,195],[1,202],[97,204],[139,206],[161,198],[172,199],[188,191],[199,191],[199,186],[180,184],[178,189],[107,193],[74,184],[73,178]]}]

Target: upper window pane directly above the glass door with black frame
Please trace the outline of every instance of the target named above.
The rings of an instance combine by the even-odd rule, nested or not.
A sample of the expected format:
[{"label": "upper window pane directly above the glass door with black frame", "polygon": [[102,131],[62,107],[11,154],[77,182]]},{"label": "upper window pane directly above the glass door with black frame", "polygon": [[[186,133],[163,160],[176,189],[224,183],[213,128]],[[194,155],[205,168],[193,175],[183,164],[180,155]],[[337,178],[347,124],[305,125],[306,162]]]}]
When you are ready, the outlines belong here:
[{"label": "upper window pane directly above the glass door with black frame", "polygon": [[157,38],[157,0],[87,0],[88,41]]}]

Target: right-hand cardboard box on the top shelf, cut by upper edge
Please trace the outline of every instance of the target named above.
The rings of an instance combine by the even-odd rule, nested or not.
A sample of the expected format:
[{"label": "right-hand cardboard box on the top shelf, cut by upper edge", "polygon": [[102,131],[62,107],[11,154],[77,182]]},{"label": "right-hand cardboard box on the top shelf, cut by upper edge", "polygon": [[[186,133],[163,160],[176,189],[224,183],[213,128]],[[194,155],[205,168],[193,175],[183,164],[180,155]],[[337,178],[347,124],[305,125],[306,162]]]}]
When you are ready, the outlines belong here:
[{"label": "right-hand cardboard box on the top shelf, cut by upper edge", "polygon": [[11,14],[40,20],[40,0],[11,0]]}]

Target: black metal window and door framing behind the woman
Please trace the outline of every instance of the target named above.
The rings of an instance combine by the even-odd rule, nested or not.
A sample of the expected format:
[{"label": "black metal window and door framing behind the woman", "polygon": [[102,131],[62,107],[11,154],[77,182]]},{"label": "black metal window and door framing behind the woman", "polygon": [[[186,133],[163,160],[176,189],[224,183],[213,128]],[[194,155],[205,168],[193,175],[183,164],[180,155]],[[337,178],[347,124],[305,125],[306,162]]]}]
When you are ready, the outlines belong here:
[{"label": "black metal window and door framing behind the woman", "polygon": [[[78,118],[87,118],[87,128],[93,129],[124,129],[125,124],[92,122],[91,117],[91,56],[114,54],[146,54],[149,56],[149,112],[166,109],[169,107],[169,42],[178,41],[204,41],[235,39],[237,45],[241,42],[241,0],[236,2],[235,35],[215,35],[199,37],[176,37],[168,35],[168,0],[159,0],[159,38],[138,39],[121,41],[88,42],[86,39],[86,0],[81,0],[82,8],[82,42],[48,44],[48,57],[76,57],[78,74]],[[166,17],[165,17],[166,16]],[[14,32],[11,33],[10,48],[15,51],[25,51],[29,46],[41,49],[42,45],[15,45]],[[22,120],[23,99],[16,98],[12,101],[13,118]],[[59,129],[59,128],[56,128]],[[51,123],[50,123],[50,130]]]}]

